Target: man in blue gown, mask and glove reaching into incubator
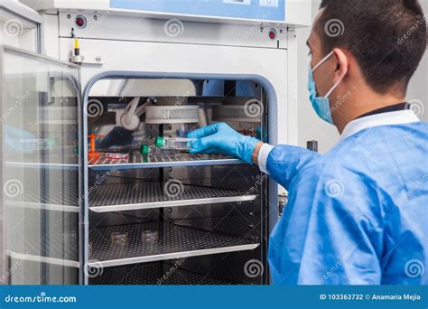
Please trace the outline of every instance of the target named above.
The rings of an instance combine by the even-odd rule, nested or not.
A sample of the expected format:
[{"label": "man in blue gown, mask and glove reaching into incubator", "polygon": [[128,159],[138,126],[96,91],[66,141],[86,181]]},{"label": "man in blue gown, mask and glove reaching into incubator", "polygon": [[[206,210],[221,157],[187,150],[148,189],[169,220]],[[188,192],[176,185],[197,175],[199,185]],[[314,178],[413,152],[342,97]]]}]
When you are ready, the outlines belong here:
[{"label": "man in blue gown, mask and glove reaching into incubator", "polygon": [[[339,35],[329,33],[332,21]],[[225,124],[189,134],[191,153],[237,156],[287,188],[269,242],[275,284],[428,283],[428,125],[405,103],[425,33],[417,0],[322,1],[308,41],[309,90],[341,134],[326,155]]]}]

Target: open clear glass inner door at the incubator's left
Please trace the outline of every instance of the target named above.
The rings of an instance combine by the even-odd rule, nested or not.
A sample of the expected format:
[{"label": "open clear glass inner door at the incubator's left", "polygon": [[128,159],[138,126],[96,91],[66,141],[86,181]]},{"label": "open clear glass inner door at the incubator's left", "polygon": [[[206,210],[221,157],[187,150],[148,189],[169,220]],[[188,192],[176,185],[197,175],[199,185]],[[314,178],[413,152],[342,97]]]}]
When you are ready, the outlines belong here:
[{"label": "open clear glass inner door at the incubator's left", "polygon": [[3,53],[3,280],[79,280],[79,69]]}]

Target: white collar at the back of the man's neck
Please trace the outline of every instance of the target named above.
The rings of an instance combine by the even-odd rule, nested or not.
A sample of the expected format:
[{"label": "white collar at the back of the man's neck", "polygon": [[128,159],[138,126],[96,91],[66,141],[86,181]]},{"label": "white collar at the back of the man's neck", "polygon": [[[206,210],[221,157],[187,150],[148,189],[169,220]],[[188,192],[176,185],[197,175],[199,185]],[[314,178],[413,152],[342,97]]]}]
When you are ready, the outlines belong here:
[{"label": "white collar at the back of the man's neck", "polygon": [[420,121],[411,109],[386,112],[377,115],[358,118],[349,122],[340,136],[340,141],[354,134],[374,126],[405,125]]}]

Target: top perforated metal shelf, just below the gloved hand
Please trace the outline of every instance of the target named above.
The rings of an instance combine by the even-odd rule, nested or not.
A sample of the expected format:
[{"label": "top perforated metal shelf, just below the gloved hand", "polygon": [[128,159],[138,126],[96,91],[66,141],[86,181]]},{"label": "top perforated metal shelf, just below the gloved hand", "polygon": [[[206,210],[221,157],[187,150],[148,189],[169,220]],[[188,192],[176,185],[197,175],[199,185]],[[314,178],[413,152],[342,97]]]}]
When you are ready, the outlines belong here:
[{"label": "top perforated metal shelf, just below the gloved hand", "polygon": [[129,153],[129,159],[113,161],[101,156],[88,162],[88,167],[93,170],[128,170],[136,168],[158,168],[173,166],[203,166],[243,164],[242,161],[233,159],[227,155],[190,155],[178,153],[175,155],[141,155],[137,151]]}]

